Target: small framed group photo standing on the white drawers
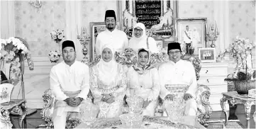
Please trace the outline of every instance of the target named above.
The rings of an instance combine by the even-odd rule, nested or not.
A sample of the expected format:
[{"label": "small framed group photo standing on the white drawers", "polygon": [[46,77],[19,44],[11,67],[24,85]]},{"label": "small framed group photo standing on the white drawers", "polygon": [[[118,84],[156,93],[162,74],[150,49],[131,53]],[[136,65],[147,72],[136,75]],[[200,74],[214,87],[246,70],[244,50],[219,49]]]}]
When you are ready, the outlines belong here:
[{"label": "small framed group photo standing on the white drawers", "polygon": [[201,62],[216,62],[216,49],[214,47],[199,48]]}]

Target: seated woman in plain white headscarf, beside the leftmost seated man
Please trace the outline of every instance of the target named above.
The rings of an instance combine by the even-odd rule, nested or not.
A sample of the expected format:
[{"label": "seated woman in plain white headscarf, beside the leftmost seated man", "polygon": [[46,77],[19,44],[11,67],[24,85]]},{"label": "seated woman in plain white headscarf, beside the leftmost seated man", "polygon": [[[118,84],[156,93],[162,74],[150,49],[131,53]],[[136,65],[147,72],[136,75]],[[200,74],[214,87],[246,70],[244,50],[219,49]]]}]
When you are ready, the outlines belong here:
[{"label": "seated woman in plain white headscarf, beside the leftmost seated man", "polygon": [[91,69],[91,94],[99,106],[98,118],[114,118],[122,113],[127,68],[113,59],[113,47],[104,45],[101,60]]}]

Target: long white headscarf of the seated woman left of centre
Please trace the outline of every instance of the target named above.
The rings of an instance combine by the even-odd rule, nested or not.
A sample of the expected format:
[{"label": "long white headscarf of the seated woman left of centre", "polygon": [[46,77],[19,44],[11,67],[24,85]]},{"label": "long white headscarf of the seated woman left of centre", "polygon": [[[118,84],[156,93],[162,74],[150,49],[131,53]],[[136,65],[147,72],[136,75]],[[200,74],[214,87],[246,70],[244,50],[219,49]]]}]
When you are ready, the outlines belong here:
[{"label": "long white headscarf of the seated woman left of centre", "polygon": [[[112,52],[112,60],[105,62],[102,58],[102,52],[104,48],[108,47]],[[106,85],[111,84],[116,78],[118,73],[118,63],[114,59],[114,49],[111,45],[104,45],[101,50],[101,60],[98,62],[97,67],[99,69],[99,79]]]}]

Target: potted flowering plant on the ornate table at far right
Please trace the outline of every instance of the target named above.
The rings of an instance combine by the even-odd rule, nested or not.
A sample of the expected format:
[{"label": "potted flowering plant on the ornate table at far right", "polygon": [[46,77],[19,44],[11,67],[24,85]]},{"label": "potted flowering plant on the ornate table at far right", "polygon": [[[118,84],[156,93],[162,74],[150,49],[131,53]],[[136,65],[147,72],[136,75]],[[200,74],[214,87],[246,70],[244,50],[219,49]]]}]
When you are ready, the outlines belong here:
[{"label": "potted flowering plant on the ornate table at far right", "polygon": [[255,69],[252,69],[252,48],[255,43],[248,39],[236,37],[230,44],[228,52],[235,59],[234,74],[229,74],[225,81],[234,82],[238,94],[248,94],[248,90],[255,89]]}]

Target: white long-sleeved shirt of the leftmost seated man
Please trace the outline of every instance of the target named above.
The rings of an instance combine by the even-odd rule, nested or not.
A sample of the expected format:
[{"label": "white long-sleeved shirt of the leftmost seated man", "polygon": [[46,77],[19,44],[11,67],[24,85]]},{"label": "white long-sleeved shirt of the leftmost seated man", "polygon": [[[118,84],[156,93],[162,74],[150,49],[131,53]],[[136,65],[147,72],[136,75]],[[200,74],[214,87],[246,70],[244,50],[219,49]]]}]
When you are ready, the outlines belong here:
[{"label": "white long-sleeved shirt of the leftmost seated man", "polygon": [[50,71],[50,89],[57,100],[68,98],[65,91],[81,92],[77,97],[87,99],[89,93],[89,67],[75,61],[71,66],[64,61],[56,64]]}]

